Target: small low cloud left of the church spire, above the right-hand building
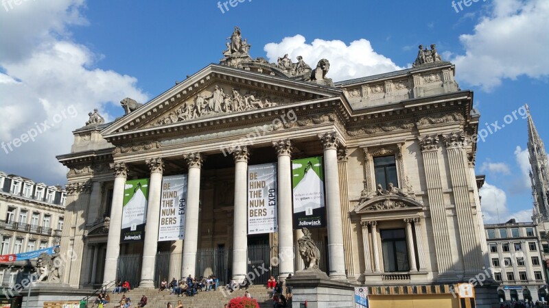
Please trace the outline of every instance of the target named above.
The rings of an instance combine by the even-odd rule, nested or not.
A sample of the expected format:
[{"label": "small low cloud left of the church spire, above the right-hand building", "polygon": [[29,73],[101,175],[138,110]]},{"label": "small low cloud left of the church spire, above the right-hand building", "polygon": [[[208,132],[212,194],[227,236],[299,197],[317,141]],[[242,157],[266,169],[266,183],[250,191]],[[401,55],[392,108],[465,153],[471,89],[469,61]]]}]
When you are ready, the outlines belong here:
[{"label": "small low cloud left of the church spire, above the right-hand building", "polygon": [[507,196],[503,190],[487,182],[479,191],[482,197],[482,216],[485,224],[496,224],[515,218],[517,222],[532,221],[532,210],[509,211]]}]

